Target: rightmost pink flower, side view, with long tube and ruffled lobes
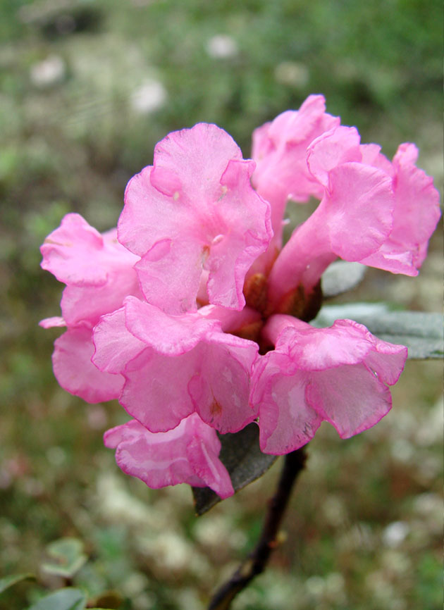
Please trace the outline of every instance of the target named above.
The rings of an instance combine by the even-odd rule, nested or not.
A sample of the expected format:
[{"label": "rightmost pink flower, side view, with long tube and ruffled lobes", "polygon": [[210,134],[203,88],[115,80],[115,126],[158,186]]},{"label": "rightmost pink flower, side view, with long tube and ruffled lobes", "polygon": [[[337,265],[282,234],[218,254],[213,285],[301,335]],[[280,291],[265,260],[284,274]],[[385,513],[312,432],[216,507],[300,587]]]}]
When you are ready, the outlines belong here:
[{"label": "rightmost pink flower, side view, with long tube and ruffled lobes", "polygon": [[307,166],[323,187],[319,207],[293,232],[271,269],[271,309],[303,285],[310,292],[338,256],[417,275],[436,227],[438,191],[414,166],[412,145],[393,163],[376,145],[359,144],[354,127],[335,127],[309,145]]}]

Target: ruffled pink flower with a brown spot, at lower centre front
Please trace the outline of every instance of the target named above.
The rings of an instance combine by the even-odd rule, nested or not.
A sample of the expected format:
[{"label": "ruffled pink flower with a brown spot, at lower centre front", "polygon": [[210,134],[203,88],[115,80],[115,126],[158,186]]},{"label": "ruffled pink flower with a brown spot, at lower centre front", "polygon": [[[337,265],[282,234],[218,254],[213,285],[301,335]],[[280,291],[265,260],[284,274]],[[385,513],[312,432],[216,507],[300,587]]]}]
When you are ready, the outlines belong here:
[{"label": "ruffled pink flower with a brown spot, at lower centre front", "polygon": [[133,297],[101,318],[93,362],[121,373],[125,409],[151,432],[166,432],[197,412],[220,432],[254,420],[249,380],[258,345],[222,332],[199,312],[169,316]]}]

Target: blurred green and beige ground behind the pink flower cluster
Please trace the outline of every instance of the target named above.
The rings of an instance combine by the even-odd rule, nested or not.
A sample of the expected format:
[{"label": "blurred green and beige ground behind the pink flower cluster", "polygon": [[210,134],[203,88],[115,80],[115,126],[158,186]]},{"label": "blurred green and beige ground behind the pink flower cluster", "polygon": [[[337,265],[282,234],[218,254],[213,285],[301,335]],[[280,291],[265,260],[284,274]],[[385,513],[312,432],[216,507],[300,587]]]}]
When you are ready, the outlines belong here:
[{"label": "blurred green and beige ground behind the pink flower cluster", "polygon": [[[441,50],[438,0],[0,1],[0,575],[37,575],[1,609],[66,584],[40,566],[67,535],[85,544],[73,583],[92,603],[114,590],[122,610],[204,609],[254,544],[279,471],[201,518],[188,487],[125,477],[101,442],[123,409],[52,375],[58,332],[37,323],[58,315],[61,285],[39,269],[44,237],[68,211],[116,225],[126,182],[169,131],[217,123],[247,157],[254,127],[310,93],[388,156],[417,142],[441,185]],[[337,301],[440,310],[441,252],[438,232],[419,278],[370,270]],[[393,411],[363,435],[321,427],[285,540],[234,610],[442,607],[440,371],[407,363]]]}]

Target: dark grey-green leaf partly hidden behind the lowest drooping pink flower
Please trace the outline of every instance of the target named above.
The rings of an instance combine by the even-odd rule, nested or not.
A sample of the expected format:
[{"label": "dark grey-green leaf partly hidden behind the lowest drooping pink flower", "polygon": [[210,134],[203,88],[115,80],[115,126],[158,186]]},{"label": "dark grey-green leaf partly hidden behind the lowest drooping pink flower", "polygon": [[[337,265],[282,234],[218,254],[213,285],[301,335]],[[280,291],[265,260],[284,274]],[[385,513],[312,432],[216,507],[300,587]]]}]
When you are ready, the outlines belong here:
[{"label": "dark grey-green leaf partly hidden behind the lowest drooping pink flower", "polygon": [[[266,455],[259,449],[259,428],[250,423],[235,434],[218,435],[222,448],[219,459],[228,470],[235,492],[263,475],[277,456]],[[203,515],[221,498],[209,487],[193,487],[197,515]]]}]

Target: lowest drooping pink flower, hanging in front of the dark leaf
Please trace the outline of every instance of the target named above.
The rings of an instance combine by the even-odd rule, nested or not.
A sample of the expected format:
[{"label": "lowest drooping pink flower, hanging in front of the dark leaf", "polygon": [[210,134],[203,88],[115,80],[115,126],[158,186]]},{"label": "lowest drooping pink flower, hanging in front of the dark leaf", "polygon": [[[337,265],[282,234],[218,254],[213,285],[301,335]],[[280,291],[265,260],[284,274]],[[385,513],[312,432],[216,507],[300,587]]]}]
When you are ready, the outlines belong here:
[{"label": "lowest drooping pink flower, hanging in front of the dark leaf", "polygon": [[149,432],[138,421],[128,421],[105,432],[106,447],[116,449],[123,472],[159,489],[188,483],[211,487],[221,498],[233,495],[230,475],[218,459],[221,441],[216,430],[196,413],[168,432]]}]

